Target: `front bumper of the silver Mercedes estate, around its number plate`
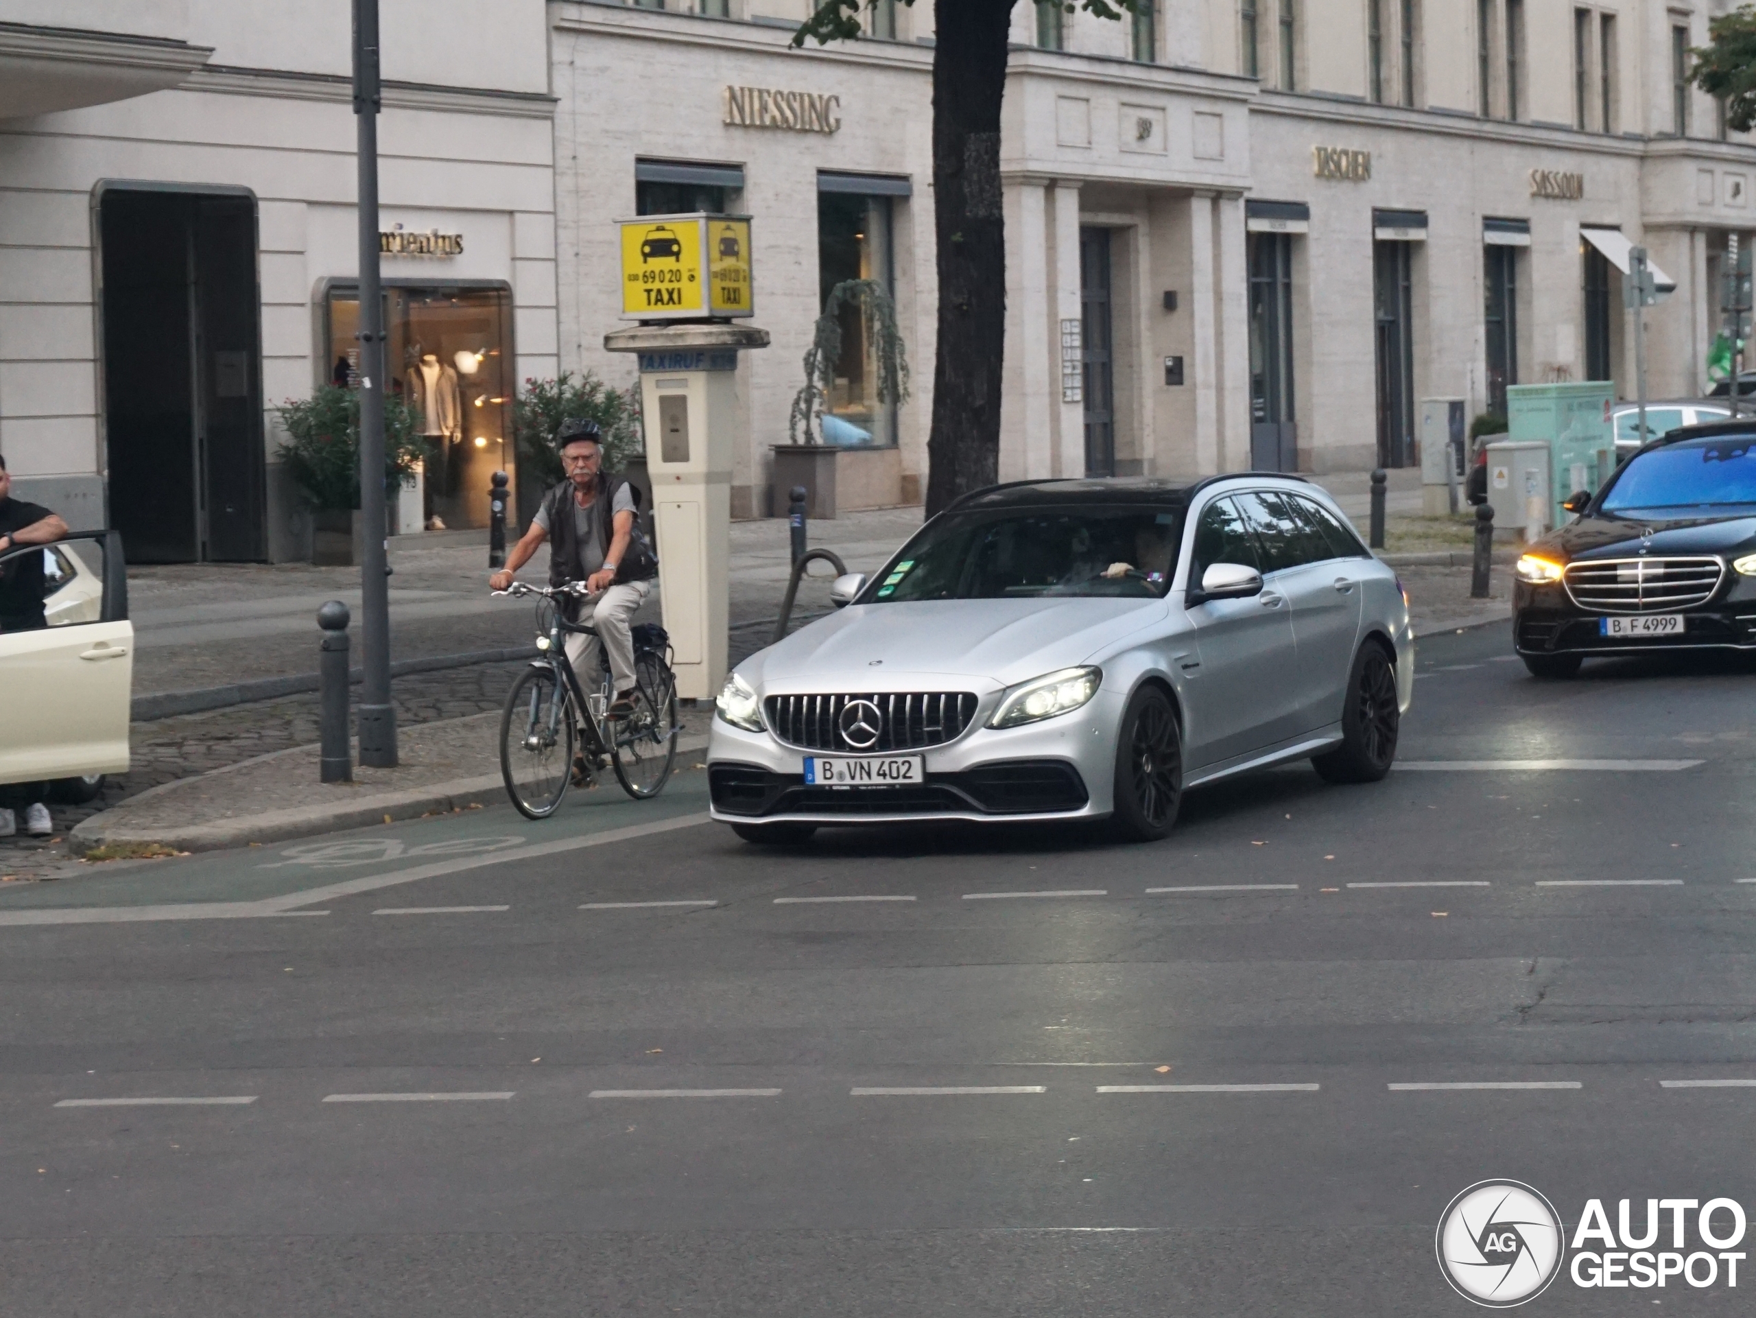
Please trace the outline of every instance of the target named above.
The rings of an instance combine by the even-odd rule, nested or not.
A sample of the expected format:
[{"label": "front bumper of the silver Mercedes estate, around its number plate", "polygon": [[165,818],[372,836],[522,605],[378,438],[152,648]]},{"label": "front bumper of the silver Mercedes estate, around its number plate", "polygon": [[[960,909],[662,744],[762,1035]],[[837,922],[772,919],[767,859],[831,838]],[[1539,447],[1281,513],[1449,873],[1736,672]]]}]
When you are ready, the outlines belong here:
[{"label": "front bumper of the silver Mercedes estate, around its number plate", "polygon": [[1099,691],[1089,705],[1022,728],[976,722],[955,742],[924,750],[925,782],[899,787],[806,786],[813,752],[713,719],[708,742],[711,815],[725,822],[874,824],[934,819],[1020,822],[1089,819],[1112,810],[1115,735],[1122,699]]}]

